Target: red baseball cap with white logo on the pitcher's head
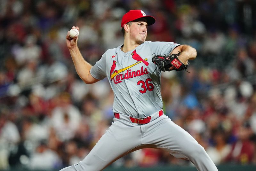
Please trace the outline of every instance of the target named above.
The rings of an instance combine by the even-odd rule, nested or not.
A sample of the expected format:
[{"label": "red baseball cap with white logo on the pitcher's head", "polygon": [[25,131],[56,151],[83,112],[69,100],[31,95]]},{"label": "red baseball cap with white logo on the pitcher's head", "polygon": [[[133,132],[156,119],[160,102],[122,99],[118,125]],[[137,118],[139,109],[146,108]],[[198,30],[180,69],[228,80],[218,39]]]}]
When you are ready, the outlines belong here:
[{"label": "red baseball cap with white logo on the pitcher's head", "polygon": [[154,24],[156,19],[150,15],[146,15],[142,10],[130,10],[126,14],[124,14],[121,22],[121,27],[129,21],[133,21],[135,19],[145,18],[147,20],[148,26]]}]

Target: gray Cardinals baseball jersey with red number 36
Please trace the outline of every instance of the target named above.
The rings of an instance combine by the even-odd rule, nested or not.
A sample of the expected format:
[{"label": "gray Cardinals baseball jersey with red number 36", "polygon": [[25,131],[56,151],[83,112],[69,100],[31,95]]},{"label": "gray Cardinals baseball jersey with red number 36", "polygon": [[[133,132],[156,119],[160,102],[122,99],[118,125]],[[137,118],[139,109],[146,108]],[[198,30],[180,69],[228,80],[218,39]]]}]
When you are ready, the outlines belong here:
[{"label": "gray Cardinals baseball jersey with red number 36", "polygon": [[91,74],[96,79],[108,78],[114,92],[113,112],[142,118],[161,110],[161,73],[151,61],[152,54],[168,55],[176,46],[179,44],[148,41],[126,53],[118,46],[103,54]]}]

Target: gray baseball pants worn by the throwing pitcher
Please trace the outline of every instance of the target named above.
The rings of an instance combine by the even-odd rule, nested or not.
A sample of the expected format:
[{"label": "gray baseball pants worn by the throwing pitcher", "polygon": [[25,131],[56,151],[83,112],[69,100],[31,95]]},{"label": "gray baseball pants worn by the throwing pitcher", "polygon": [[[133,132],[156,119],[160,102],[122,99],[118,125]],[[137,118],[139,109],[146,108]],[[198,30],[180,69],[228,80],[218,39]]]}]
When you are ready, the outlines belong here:
[{"label": "gray baseball pants worn by the throwing pitcher", "polygon": [[162,115],[144,125],[114,118],[84,160],[60,171],[103,170],[130,152],[150,147],[168,151],[179,159],[189,159],[199,171],[218,170],[204,148],[188,132]]}]

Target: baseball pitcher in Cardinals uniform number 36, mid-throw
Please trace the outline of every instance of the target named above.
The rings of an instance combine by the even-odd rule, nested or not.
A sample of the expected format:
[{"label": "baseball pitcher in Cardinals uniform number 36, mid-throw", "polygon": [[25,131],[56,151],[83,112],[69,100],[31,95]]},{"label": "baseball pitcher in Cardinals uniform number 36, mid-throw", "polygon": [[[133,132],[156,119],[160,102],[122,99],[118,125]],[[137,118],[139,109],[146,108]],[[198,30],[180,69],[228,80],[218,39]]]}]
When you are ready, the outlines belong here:
[{"label": "baseball pitcher in Cardinals uniform number 36, mid-throw", "polygon": [[124,44],[107,50],[94,66],[81,55],[78,36],[71,38],[67,33],[67,46],[80,78],[92,84],[107,77],[114,92],[114,119],[84,160],[61,171],[103,170],[141,148],[168,151],[176,158],[190,160],[200,171],[217,170],[204,148],[164,115],[161,72],[187,69],[188,60],[196,58],[196,50],[173,42],[145,41],[147,27],[155,21],[141,10],[124,14]]}]

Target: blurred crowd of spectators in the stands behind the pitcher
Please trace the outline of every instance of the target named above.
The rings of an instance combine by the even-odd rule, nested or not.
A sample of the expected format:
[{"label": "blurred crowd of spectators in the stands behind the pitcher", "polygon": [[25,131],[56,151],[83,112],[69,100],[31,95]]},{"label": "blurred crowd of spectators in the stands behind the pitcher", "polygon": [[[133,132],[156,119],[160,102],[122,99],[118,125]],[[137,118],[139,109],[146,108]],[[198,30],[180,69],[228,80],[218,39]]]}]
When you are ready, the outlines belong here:
[{"label": "blurred crowd of spectators in the stands behind the pitcher", "polygon": [[[196,48],[187,72],[162,73],[164,114],[196,138],[216,165],[256,164],[254,0],[0,0],[0,169],[62,168],[90,152],[111,125],[113,92],[76,74],[66,34],[78,26],[92,65],[123,43],[121,18],[156,18],[151,41]],[[44,161],[44,162],[42,162]],[[155,149],[112,167],[191,165]]]}]

